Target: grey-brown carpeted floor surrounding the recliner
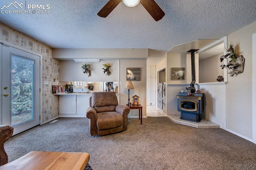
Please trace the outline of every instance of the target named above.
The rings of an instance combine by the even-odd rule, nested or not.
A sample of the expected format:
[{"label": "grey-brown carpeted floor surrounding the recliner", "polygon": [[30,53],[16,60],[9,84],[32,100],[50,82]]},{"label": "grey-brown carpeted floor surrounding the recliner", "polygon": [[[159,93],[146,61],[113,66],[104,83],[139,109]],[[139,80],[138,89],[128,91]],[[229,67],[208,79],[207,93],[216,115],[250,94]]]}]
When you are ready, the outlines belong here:
[{"label": "grey-brown carpeted floor surrounding the recliner", "polygon": [[128,120],[128,130],[90,137],[87,118],[58,118],[5,143],[9,162],[33,151],[88,152],[94,170],[255,170],[256,144],[166,117]]}]

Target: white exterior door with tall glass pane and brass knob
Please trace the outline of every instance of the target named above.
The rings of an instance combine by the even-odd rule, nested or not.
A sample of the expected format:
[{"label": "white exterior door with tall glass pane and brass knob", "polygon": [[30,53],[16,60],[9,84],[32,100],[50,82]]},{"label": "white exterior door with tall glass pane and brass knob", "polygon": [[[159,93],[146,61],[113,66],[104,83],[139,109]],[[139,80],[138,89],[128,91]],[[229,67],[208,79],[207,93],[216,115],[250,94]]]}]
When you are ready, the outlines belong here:
[{"label": "white exterior door with tall glass pane and brass knob", "polygon": [[40,56],[2,46],[2,124],[18,134],[40,124]]}]

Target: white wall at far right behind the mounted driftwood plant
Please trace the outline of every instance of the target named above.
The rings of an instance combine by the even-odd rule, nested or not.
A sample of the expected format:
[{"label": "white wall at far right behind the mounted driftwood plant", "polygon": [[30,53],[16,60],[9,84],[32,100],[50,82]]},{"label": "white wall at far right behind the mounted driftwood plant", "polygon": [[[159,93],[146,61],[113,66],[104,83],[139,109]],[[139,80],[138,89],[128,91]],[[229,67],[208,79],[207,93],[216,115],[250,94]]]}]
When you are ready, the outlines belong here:
[{"label": "white wall at far right behind the mounted driftwood plant", "polygon": [[228,74],[227,130],[248,139],[252,139],[252,34],[255,32],[256,22],[228,35],[227,40],[245,58],[243,73],[234,77]]}]

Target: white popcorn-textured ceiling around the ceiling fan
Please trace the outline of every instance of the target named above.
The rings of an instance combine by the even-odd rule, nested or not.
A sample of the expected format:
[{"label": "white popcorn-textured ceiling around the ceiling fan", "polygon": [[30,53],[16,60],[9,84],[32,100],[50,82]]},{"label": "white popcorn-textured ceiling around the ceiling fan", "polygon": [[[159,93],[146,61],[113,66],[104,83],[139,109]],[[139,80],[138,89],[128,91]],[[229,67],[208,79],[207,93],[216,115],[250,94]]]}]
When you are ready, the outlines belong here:
[{"label": "white popcorn-textured ceiling around the ceiling fan", "polygon": [[[0,23],[52,48],[149,48],[167,52],[198,39],[219,39],[256,21],[256,0],[155,0],[165,12],[156,22],[139,4],[123,2],[108,15],[108,0],[17,0],[50,5],[49,14],[0,14]],[[0,8],[15,0],[1,0]],[[15,10],[9,6],[8,10]]]}]

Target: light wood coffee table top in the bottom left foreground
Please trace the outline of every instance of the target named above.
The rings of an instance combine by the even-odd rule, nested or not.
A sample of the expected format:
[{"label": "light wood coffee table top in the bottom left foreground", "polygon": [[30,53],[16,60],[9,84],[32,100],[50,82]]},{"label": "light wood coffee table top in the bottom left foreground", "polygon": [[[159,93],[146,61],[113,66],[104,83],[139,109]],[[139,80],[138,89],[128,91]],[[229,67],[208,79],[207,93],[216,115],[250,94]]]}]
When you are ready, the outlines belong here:
[{"label": "light wood coffee table top in the bottom left foreground", "polygon": [[0,170],[84,170],[89,159],[88,153],[32,151]]}]

